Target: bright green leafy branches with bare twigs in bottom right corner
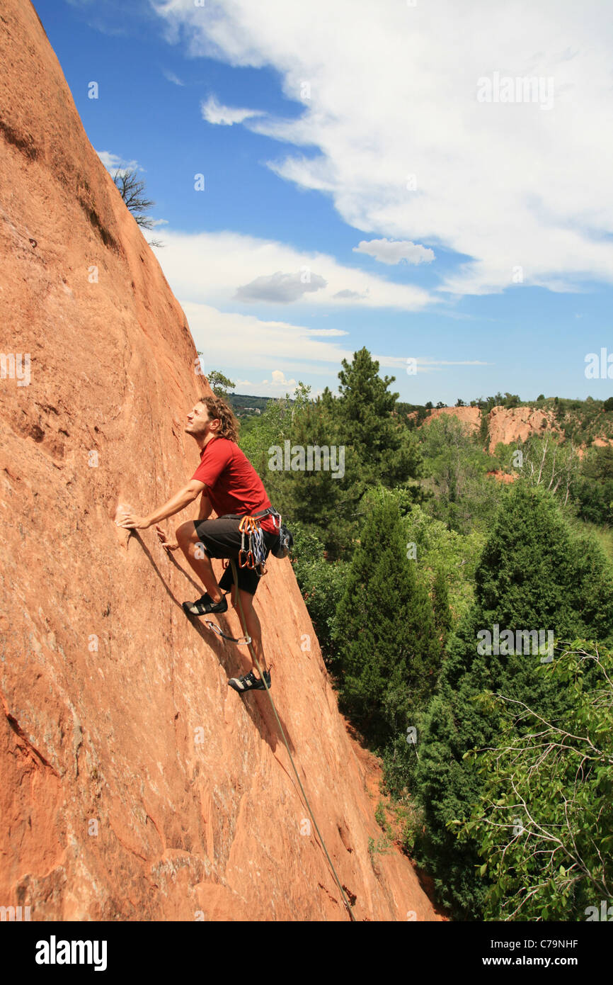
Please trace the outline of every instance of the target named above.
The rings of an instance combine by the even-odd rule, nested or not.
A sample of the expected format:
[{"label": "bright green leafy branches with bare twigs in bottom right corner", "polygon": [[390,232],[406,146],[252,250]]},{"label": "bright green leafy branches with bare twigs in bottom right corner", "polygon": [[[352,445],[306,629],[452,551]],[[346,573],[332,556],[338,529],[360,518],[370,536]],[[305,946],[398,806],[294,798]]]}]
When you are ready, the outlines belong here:
[{"label": "bright green leafy branches with bare twigs in bottom right corner", "polygon": [[537,673],[565,694],[565,720],[498,694],[496,747],[465,754],[484,789],[460,840],[479,841],[488,919],[584,920],[613,897],[613,656],[587,640],[561,650]]}]

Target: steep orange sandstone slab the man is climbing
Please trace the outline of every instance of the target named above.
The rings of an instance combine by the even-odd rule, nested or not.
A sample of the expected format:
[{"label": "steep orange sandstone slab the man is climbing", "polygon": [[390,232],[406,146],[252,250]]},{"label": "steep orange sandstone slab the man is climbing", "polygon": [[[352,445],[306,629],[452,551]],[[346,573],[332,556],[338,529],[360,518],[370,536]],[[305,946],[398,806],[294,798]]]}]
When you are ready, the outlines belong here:
[{"label": "steep orange sandstone slab the man is climbing", "polygon": [[[115,526],[120,505],[145,514],[191,477],[185,415],[209,391],[31,4],[1,0],[0,20],[0,904],[347,920],[269,696],[228,689],[241,653],[183,615],[202,587],[182,556]],[[440,919],[398,849],[369,853],[377,805],[289,560],[271,558],[256,607],[356,919]],[[239,634],[231,609],[218,623]]]}]

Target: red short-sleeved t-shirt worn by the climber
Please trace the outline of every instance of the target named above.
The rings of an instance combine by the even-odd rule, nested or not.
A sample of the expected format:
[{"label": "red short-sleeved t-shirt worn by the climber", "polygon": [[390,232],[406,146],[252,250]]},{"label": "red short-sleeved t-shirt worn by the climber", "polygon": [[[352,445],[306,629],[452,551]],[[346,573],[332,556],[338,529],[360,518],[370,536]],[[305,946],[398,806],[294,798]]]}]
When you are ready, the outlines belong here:
[{"label": "red short-sleeved t-shirt worn by the climber", "polygon": [[[223,513],[258,513],[271,505],[260,476],[234,441],[215,437],[200,453],[200,465],[192,476],[205,483],[205,491],[217,516]],[[272,516],[261,521],[263,530],[276,533]]]}]

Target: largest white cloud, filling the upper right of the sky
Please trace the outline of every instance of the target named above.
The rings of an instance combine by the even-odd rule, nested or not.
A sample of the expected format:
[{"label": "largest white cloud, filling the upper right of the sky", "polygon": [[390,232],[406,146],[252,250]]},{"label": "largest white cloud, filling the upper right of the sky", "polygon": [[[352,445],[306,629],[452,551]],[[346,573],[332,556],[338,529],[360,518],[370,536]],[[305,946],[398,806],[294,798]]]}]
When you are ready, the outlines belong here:
[{"label": "largest white cloud, filling the upper right of the sky", "polygon": [[[518,266],[524,285],[553,291],[613,281],[613,21],[601,0],[207,0],[206,18],[193,0],[165,0],[156,10],[174,40],[185,30],[192,57],[272,66],[298,101],[308,81],[298,119],[244,117],[296,147],[270,166],[329,193],[358,230],[470,258],[446,291],[511,288]],[[550,108],[478,101],[479,80],[496,73],[552,79]],[[304,157],[308,146],[319,153]]]}]

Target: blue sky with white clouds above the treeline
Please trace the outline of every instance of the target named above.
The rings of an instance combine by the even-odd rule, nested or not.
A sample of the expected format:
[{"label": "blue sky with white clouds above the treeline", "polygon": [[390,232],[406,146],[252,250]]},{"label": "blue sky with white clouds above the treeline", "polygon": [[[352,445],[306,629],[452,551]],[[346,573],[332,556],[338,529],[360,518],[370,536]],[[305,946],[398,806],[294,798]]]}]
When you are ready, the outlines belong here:
[{"label": "blue sky with white clouds above the treeline", "polygon": [[337,392],[366,346],[414,403],[613,393],[613,18],[493,6],[34,0],[205,371]]}]

